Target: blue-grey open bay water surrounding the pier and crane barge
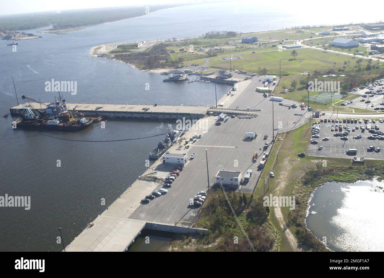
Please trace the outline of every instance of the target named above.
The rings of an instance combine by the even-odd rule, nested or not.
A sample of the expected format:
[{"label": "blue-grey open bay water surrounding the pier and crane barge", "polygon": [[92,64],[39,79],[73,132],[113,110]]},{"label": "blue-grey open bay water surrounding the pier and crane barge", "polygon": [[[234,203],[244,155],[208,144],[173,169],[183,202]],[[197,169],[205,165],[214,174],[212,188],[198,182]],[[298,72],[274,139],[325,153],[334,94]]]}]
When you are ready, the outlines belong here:
[{"label": "blue-grey open bay water surrounding the pier and crane barge", "polygon": [[[9,41],[0,41],[0,114],[9,113],[9,108],[16,104],[12,75],[19,99],[25,94],[36,100],[53,101],[53,93],[44,90],[45,82],[53,78],[77,81],[76,95],[63,94],[67,102],[214,104],[212,82],[162,82],[164,77],[160,74],[90,56],[90,49],[100,44],[199,36],[212,30],[263,31],[350,22],[349,18],[361,16],[377,20],[371,14],[356,17],[358,10],[352,13],[356,15],[331,10],[326,17],[317,17],[300,10],[271,10],[269,6],[247,2],[202,4],[161,10],[67,35],[40,34],[43,38],[19,41],[16,52],[6,46]],[[150,90],[145,90],[147,83]],[[218,85],[218,98],[227,89]],[[57,228],[62,227],[65,243],[71,242],[104,211],[101,198],[106,199],[108,206],[143,173],[149,151],[162,139],[76,143],[12,130],[10,125],[15,119],[0,118],[0,196],[31,196],[31,209],[0,208],[0,251],[61,250],[56,243]],[[105,130],[49,134],[105,140],[163,133],[165,129],[163,123],[108,121]],[[57,160],[61,160],[60,168],[56,167]]]}]

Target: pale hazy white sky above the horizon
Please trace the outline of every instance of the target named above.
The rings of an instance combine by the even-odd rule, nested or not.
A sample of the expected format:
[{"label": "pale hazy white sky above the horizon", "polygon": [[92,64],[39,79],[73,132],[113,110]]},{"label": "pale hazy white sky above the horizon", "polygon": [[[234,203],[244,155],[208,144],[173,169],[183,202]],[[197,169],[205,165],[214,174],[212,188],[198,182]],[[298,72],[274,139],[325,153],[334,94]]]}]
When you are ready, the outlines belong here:
[{"label": "pale hazy white sky above the horizon", "polygon": [[[15,13],[33,13],[58,10],[73,10],[86,8],[104,7],[124,7],[134,5],[154,5],[154,4],[195,4],[204,2],[235,2],[233,0],[1,0],[0,15]],[[322,16],[329,11],[348,12],[352,9],[350,4],[335,0],[242,0],[239,2],[241,7],[252,5],[260,7],[260,10],[286,11],[297,13],[310,13],[313,16]],[[351,21],[353,21],[351,19]]]}]

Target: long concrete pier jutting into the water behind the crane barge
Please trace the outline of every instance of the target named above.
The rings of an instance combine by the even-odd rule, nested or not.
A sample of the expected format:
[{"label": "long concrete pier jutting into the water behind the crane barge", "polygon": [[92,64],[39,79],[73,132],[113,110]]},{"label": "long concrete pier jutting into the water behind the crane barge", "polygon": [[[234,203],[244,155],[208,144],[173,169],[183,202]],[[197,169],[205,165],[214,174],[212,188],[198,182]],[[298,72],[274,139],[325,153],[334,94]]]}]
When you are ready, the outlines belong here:
[{"label": "long concrete pier jutting into the water behind the crane barge", "polygon": [[[35,109],[40,109],[40,103],[31,103]],[[48,105],[46,103],[45,105]],[[199,120],[205,117],[210,106],[203,105],[137,105],[137,104],[84,104],[67,103],[70,110],[84,113],[87,117],[108,117],[108,118],[136,118],[147,120],[177,120],[189,119]],[[41,104],[41,108],[43,104]],[[24,113],[23,105],[10,108],[11,115]]]}]

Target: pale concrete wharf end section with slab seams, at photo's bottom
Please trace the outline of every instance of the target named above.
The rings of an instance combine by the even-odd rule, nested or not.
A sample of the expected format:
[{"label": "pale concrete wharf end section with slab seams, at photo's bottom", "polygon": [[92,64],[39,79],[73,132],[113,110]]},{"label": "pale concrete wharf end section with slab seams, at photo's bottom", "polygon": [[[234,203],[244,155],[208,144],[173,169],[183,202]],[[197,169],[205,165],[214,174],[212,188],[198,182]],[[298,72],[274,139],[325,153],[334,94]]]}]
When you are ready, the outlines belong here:
[{"label": "pale concrete wharf end section with slab seams, at photo's bottom", "polygon": [[66,247],[68,252],[123,252],[136,239],[146,221],[100,215]]}]

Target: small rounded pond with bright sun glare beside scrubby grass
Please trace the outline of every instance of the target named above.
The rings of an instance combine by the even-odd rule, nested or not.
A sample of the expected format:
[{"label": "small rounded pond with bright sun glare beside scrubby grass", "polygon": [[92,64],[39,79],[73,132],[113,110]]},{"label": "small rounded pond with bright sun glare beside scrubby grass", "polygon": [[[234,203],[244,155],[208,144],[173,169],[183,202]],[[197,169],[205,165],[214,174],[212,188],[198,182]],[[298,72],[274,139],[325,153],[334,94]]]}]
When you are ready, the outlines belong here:
[{"label": "small rounded pond with bright sun glare beside scrubby grass", "polygon": [[314,191],[306,224],[334,251],[384,251],[384,183],[326,183]]}]

